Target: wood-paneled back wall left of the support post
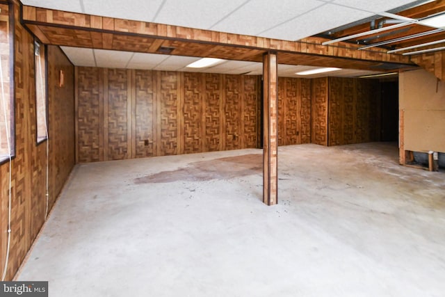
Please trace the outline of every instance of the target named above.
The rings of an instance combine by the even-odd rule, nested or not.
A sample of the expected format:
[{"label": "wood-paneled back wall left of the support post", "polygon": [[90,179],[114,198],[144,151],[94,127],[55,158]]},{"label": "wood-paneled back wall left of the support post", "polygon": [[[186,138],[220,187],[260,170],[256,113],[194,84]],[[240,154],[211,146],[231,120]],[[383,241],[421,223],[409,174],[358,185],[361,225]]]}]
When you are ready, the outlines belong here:
[{"label": "wood-paneled back wall left of the support post", "polygon": [[257,147],[255,76],[76,67],[79,162]]}]

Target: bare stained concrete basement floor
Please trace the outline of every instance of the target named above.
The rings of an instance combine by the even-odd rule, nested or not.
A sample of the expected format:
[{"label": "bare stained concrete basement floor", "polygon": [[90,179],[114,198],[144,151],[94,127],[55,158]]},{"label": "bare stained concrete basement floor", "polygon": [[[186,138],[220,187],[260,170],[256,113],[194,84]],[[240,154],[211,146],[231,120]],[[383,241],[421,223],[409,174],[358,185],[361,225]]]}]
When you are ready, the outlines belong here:
[{"label": "bare stained concrete basement floor", "polygon": [[444,296],[445,173],[389,143],[76,166],[17,280],[49,296]]}]

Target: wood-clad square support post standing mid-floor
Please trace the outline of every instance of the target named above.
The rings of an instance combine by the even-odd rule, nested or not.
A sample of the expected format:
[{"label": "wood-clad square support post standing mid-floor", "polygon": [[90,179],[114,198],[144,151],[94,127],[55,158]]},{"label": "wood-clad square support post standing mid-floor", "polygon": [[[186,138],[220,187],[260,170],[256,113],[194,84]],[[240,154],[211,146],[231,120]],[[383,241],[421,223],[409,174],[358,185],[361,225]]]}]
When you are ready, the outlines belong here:
[{"label": "wood-clad square support post standing mid-floor", "polygon": [[268,52],[263,56],[263,202],[268,205],[278,202],[277,86],[277,54]]}]

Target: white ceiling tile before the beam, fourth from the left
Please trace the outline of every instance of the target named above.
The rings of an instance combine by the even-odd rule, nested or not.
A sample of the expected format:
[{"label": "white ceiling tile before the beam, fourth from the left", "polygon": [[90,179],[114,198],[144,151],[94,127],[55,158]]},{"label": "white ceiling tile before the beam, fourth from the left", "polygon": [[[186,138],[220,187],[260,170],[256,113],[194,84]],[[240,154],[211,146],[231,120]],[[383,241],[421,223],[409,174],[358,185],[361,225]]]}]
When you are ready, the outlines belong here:
[{"label": "white ceiling tile before the beam, fourth from the left", "polygon": [[211,29],[257,35],[321,5],[323,2],[316,0],[251,0]]}]

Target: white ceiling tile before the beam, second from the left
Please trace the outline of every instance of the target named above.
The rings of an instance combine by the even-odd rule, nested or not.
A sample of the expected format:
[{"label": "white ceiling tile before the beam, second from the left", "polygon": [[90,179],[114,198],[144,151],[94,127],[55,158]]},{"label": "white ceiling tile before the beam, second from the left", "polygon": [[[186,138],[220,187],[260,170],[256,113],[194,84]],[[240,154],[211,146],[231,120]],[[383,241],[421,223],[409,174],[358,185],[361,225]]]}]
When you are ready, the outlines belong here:
[{"label": "white ceiling tile before the beam, second from the left", "polygon": [[[89,15],[152,22],[161,3],[162,0],[132,0],[127,3],[122,3],[122,0],[83,0],[83,7]],[[170,15],[170,18],[174,19],[175,15]]]}]

